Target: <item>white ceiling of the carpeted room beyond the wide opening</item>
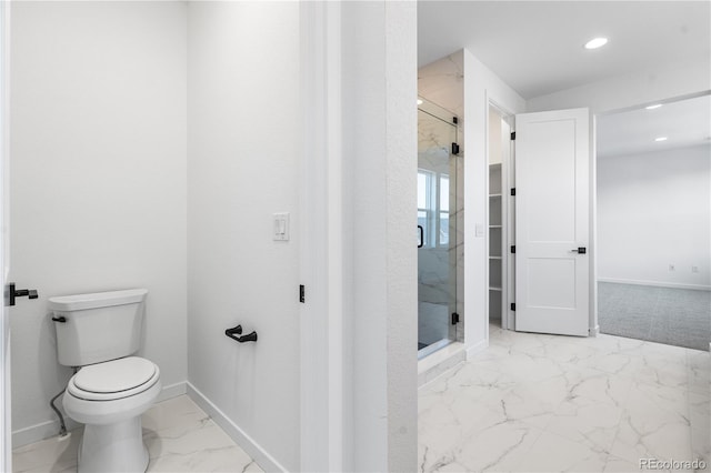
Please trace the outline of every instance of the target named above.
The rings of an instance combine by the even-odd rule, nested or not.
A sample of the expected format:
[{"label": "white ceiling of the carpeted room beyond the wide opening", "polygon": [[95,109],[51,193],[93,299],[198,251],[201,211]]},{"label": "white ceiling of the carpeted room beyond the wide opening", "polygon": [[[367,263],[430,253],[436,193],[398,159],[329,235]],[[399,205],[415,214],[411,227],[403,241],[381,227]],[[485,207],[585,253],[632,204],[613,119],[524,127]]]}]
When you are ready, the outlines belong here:
[{"label": "white ceiling of the carpeted room beyond the wide opening", "polygon": [[[598,158],[711,143],[711,95],[598,117]],[[665,141],[654,141],[667,137]]]}]

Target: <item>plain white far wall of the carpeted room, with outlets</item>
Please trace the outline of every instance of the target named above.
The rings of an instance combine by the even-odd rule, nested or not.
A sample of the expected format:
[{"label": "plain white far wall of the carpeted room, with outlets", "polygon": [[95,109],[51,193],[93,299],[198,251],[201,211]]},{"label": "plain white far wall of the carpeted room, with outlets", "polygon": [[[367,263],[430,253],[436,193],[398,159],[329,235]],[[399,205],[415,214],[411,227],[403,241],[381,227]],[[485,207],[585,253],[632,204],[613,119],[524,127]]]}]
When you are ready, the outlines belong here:
[{"label": "plain white far wall of the carpeted room, with outlets", "polygon": [[710,162],[710,145],[598,159],[600,280],[711,289]]}]

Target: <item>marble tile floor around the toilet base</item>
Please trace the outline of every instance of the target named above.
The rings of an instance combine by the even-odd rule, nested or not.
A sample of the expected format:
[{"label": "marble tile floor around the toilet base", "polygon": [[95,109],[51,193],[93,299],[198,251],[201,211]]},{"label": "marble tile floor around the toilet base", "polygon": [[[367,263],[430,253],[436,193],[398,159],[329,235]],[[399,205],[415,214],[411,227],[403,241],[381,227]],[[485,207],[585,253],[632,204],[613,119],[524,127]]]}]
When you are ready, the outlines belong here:
[{"label": "marble tile floor around the toilet base", "polygon": [[[237,445],[187,395],[151,407],[142,417],[148,446],[149,472],[261,472]],[[82,429],[58,441],[47,439],[12,452],[12,471],[76,472]]]}]

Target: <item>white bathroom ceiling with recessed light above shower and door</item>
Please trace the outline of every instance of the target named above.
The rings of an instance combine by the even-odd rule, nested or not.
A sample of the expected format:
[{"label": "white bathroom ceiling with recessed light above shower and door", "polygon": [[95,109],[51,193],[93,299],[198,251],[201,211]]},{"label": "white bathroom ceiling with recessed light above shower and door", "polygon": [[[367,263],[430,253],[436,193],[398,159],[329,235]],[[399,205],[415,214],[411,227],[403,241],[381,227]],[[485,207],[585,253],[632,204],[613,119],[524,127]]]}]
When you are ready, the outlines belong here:
[{"label": "white bathroom ceiling with recessed light above shower and door", "polygon": [[[418,64],[462,48],[524,99],[711,61],[711,1],[418,1]],[[583,44],[607,37],[603,48]]]}]

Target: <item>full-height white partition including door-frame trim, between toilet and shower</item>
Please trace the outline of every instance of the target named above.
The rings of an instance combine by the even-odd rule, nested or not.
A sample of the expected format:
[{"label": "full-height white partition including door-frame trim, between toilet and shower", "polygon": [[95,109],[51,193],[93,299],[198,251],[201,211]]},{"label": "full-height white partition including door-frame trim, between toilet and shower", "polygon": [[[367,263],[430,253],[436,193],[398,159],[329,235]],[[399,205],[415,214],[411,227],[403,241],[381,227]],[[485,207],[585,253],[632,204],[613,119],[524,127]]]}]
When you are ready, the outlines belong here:
[{"label": "full-height white partition including door-frame trim, between toilet and shower", "polygon": [[414,471],[417,10],[302,14],[301,471]]}]

